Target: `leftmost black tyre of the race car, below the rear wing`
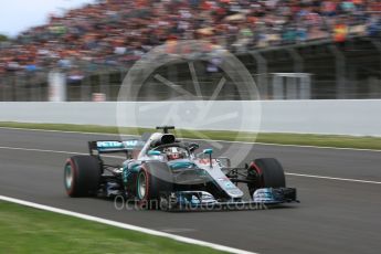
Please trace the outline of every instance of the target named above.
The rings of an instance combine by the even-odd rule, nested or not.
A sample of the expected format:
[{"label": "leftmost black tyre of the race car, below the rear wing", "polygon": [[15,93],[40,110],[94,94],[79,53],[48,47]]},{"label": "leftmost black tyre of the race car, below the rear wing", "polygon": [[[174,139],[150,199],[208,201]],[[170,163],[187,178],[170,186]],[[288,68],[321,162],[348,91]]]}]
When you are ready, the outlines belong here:
[{"label": "leftmost black tyre of the race car, below the rear wing", "polygon": [[64,168],[64,187],[70,197],[95,195],[100,181],[99,160],[93,156],[73,156]]}]

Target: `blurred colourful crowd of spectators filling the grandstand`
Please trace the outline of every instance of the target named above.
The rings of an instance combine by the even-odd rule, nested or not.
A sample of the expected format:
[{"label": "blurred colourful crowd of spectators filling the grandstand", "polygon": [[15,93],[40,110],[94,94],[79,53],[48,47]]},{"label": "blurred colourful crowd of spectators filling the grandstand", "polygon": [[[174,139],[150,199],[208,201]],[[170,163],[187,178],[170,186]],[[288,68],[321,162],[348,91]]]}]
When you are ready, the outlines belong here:
[{"label": "blurred colourful crowd of spectators filling the grandstand", "polygon": [[51,15],[45,25],[3,44],[0,75],[20,68],[71,70],[77,63],[87,68],[125,66],[154,46],[177,40],[203,39],[245,52],[379,36],[380,17],[380,0],[97,0]]}]

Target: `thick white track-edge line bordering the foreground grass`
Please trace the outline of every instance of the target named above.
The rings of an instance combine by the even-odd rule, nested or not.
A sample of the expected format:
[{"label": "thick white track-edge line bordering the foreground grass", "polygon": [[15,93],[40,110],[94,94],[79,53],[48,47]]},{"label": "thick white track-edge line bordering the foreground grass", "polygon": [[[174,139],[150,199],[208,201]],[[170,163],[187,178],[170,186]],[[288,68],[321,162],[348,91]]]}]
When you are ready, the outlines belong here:
[{"label": "thick white track-edge line bordering the foreground grass", "polygon": [[180,235],[176,235],[176,234],[165,233],[165,232],[160,232],[160,231],[156,231],[156,230],[150,230],[147,227],[136,226],[136,225],[121,223],[121,222],[117,222],[117,221],[112,221],[112,220],[107,220],[107,219],[103,219],[103,218],[92,216],[92,215],[87,215],[87,214],[83,214],[83,213],[77,213],[77,212],[73,212],[73,211],[68,211],[68,210],[64,210],[64,209],[59,209],[59,208],[53,208],[53,207],[39,204],[39,203],[34,203],[34,202],[29,202],[25,200],[14,199],[14,198],[10,198],[10,197],[0,195],[0,200],[21,204],[21,205],[25,205],[25,207],[30,207],[30,208],[34,208],[34,209],[40,209],[40,210],[44,210],[44,211],[49,211],[49,212],[55,212],[55,213],[60,213],[60,214],[64,214],[64,215],[68,215],[68,216],[74,216],[74,218],[78,218],[78,219],[83,219],[83,220],[87,220],[87,221],[98,222],[102,224],[116,226],[116,227],[120,227],[120,229],[125,229],[125,230],[131,230],[131,231],[137,231],[137,232],[141,232],[141,233],[150,234],[150,235],[167,237],[167,239],[171,239],[171,240],[174,240],[178,242],[195,244],[195,245],[200,245],[200,246],[204,246],[204,247],[211,247],[211,248],[223,251],[223,252],[236,253],[236,254],[255,254],[254,252],[243,251],[240,248],[229,247],[229,246],[214,244],[214,243],[210,243],[210,242],[205,242],[205,241],[200,241],[200,240],[184,237],[184,236],[180,236]]}]

